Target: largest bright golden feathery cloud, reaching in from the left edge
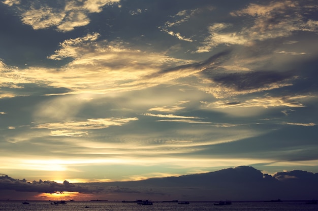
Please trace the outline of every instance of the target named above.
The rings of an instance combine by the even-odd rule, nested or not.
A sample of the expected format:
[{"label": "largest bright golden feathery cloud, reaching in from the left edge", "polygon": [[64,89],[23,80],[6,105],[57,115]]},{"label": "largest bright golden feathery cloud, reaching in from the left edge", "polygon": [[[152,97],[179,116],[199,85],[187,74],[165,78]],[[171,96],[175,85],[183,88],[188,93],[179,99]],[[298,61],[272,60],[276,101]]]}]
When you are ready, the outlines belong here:
[{"label": "largest bright golden feathery cloud, reaching in from the left edge", "polygon": [[[28,95],[29,93],[23,88],[35,84],[42,89],[43,94],[47,95],[105,94],[146,89],[169,83],[174,79],[166,77],[149,80],[148,74],[193,62],[175,59],[161,53],[130,49],[128,44],[120,40],[98,41],[98,37],[98,33],[90,33],[63,41],[60,49],[48,56],[48,59],[72,58],[73,61],[57,69],[36,66],[18,69],[1,61],[0,82],[8,91],[0,92],[0,96]],[[47,89],[43,90],[44,87]]]}]

